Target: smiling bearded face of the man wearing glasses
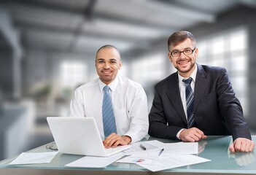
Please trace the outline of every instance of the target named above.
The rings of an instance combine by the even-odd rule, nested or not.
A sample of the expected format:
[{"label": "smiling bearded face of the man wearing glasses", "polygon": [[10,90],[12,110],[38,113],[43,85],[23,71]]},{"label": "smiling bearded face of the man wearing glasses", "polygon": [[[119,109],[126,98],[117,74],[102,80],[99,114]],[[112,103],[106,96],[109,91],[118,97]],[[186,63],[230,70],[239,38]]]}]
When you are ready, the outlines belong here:
[{"label": "smiling bearded face of the man wearing glasses", "polygon": [[171,44],[171,47],[169,47],[170,52],[168,52],[168,58],[182,77],[190,77],[190,74],[195,70],[195,60],[198,56],[198,48],[195,48],[194,52],[190,55],[185,55],[184,52],[182,52],[181,55],[177,57],[172,56],[171,52],[183,51],[186,49],[193,50],[194,48],[195,44],[190,39],[185,39],[184,42],[181,42],[176,46]]}]

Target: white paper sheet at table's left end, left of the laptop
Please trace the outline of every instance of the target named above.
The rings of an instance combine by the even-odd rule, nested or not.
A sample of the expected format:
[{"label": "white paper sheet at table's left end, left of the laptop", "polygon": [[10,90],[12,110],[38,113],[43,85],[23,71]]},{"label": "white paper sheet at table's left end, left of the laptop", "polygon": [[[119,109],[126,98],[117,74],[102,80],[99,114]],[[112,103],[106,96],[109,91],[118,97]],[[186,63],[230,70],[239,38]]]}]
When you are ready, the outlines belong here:
[{"label": "white paper sheet at table's left end, left of the laptop", "polygon": [[50,163],[58,152],[23,152],[9,165]]}]

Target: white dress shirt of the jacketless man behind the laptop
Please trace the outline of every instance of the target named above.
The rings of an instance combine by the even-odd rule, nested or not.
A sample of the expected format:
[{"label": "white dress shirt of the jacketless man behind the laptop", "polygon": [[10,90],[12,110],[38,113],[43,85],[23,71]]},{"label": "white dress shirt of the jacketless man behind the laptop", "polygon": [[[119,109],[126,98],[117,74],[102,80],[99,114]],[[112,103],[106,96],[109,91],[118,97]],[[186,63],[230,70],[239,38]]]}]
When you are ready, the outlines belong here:
[{"label": "white dress shirt of the jacketless man behind the laptop", "polygon": [[[95,79],[75,90],[71,100],[69,117],[94,117],[104,139],[102,101],[104,82]],[[109,83],[115,114],[117,134],[130,136],[131,142],[140,141],[149,128],[147,96],[142,86],[126,77],[117,76]]]}]

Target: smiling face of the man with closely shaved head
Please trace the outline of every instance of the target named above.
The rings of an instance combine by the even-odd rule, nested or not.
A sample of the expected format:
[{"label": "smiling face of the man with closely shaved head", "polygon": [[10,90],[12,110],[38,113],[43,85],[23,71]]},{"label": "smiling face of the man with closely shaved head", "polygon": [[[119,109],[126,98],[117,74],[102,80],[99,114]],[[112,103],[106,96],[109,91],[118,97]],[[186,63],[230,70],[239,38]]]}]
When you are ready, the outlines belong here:
[{"label": "smiling face of the man with closely shaved head", "polygon": [[120,53],[114,47],[104,47],[96,54],[96,71],[99,79],[108,85],[122,66]]}]

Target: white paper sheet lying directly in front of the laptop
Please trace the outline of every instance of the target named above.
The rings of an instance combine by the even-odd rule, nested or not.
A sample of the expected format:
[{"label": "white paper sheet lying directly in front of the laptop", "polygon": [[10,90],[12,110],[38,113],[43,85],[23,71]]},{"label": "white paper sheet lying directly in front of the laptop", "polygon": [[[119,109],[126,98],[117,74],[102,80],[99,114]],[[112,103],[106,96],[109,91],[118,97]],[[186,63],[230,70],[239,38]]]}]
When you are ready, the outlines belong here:
[{"label": "white paper sheet lying directly in front of the laptop", "polygon": [[122,158],[124,155],[122,152],[109,157],[94,157],[94,156],[85,156],[74,162],[66,164],[70,167],[86,167],[86,168],[104,168],[109,164],[115,162],[116,160]]}]

